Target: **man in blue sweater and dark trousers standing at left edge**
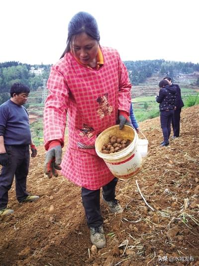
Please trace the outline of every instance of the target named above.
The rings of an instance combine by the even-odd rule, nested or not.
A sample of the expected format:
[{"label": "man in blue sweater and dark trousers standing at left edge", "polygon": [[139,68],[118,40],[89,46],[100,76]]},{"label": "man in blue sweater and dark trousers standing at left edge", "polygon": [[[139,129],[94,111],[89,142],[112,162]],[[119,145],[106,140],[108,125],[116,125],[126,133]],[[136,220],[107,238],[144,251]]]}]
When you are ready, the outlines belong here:
[{"label": "man in blue sweater and dark trousers standing at left edge", "polygon": [[16,198],[19,203],[32,202],[39,196],[28,195],[26,178],[31,157],[37,150],[31,140],[28,113],[22,105],[27,101],[29,88],[14,83],[10,89],[11,98],[0,105],[0,217],[10,215],[7,208],[8,191],[15,176]]}]

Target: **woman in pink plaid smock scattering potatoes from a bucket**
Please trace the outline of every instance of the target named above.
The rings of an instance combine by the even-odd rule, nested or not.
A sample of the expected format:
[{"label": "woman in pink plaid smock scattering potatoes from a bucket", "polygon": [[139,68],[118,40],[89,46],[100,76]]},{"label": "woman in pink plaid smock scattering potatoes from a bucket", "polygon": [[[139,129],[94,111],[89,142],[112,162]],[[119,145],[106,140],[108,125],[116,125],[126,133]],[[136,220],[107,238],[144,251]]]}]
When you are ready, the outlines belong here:
[{"label": "woman in pink plaid smock scattering potatoes from a bucket", "polygon": [[[100,46],[96,19],[77,13],[68,26],[67,47],[51,67],[44,110],[45,173],[56,169],[82,187],[82,201],[91,242],[105,246],[102,199],[114,213],[123,209],[115,199],[115,178],[95,151],[97,136],[119,119],[120,129],[129,122],[130,90],[127,69],[112,48]],[[61,164],[68,113],[69,143]],[[61,167],[60,167],[61,164]]]}]

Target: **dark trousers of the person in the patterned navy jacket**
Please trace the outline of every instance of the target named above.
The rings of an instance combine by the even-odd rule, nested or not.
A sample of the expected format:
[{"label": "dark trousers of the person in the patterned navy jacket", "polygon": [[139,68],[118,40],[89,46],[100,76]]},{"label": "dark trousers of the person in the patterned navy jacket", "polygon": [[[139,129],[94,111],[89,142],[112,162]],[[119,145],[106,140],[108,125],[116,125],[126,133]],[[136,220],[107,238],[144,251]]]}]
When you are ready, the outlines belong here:
[{"label": "dark trousers of the person in the patterned navy jacket", "polygon": [[160,112],[160,123],[164,141],[168,141],[171,134],[171,120],[174,110],[165,110]]}]

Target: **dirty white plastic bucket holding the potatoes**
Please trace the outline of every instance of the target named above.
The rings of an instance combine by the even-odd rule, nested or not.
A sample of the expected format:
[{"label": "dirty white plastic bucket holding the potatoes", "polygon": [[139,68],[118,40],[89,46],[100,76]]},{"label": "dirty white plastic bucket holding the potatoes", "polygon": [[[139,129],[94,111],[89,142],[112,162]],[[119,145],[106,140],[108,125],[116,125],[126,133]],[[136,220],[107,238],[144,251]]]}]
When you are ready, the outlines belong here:
[{"label": "dirty white plastic bucket holding the potatoes", "polygon": [[[123,150],[111,154],[104,154],[101,148],[104,143],[109,142],[109,136],[115,135],[132,142]],[[105,129],[96,139],[96,153],[102,158],[110,172],[117,178],[128,179],[136,175],[142,168],[142,157],[138,152],[138,135],[135,129],[124,125],[120,130],[119,125]]]}]

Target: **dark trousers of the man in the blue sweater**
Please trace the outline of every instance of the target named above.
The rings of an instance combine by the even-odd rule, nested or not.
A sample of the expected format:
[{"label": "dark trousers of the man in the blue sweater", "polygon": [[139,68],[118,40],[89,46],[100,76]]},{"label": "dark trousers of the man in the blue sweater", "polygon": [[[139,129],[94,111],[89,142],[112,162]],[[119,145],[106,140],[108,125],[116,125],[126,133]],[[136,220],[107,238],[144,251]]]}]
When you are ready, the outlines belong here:
[{"label": "dark trousers of the man in the blue sweater", "polygon": [[14,175],[18,202],[28,196],[26,178],[30,162],[29,145],[5,145],[5,149],[9,157],[9,165],[3,166],[0,173],[0,210],[7,207],[8,191],[11,188]]}]

